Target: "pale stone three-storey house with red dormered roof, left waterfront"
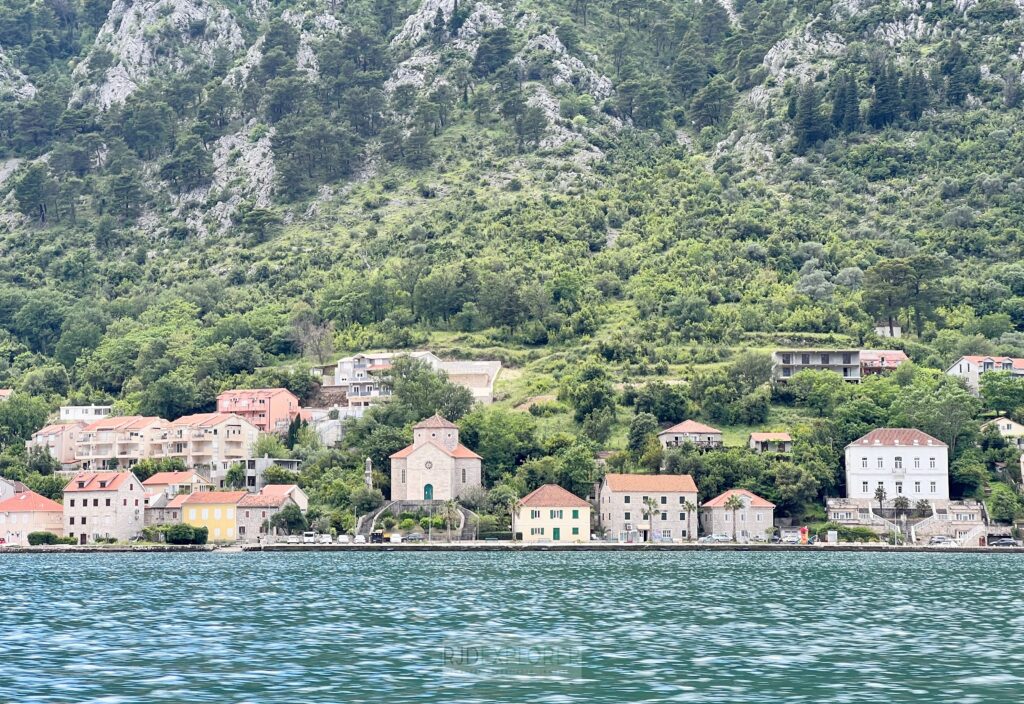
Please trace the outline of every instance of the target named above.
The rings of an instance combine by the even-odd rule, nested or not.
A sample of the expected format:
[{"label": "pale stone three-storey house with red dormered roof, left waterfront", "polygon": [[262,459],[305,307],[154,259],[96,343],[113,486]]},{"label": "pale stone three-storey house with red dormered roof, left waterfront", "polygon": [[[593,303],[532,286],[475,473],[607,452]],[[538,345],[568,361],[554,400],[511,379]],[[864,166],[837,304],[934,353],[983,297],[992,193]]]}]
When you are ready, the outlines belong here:
[{"label": "pale stone three-storey house with red dormered roof, left waterfront", "polygon": [[145,489],[131,472],[79,472],[65,487],[63,515],[79,544],[130,540],[145,525]]}]

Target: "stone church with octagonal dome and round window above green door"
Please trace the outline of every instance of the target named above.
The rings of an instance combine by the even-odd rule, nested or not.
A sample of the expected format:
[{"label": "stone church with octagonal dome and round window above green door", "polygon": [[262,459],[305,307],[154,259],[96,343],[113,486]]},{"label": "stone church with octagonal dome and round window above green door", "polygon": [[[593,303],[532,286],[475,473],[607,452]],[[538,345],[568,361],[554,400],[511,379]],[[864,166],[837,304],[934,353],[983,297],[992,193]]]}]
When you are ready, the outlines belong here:
[{"label": "stone church with octagonal dome and round window above green door", "polygon": [[413,426],[413,444],[391,455],[391,499],[457,498],[482,486],[481,457],[459,443],[459,428],[440,415]]}]

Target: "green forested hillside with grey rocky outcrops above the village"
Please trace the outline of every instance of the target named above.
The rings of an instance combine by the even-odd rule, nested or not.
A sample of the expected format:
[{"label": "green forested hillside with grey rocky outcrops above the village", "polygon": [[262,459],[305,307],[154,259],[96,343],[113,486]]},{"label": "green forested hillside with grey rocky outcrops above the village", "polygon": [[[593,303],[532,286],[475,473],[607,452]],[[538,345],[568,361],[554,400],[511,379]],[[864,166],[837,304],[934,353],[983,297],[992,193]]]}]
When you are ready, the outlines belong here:
[{"label": "green forested hillside with grey rocky outcrops above the village", "polygon": [[1024,356],[1021,36],[1017,0],[3,0],[0,385],[173,417],[313,394],[327,339],[498,356],[517,405],[890,318],[921,366]]}]

